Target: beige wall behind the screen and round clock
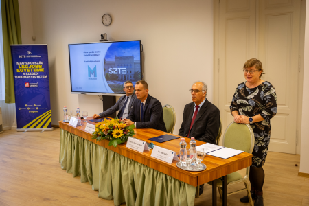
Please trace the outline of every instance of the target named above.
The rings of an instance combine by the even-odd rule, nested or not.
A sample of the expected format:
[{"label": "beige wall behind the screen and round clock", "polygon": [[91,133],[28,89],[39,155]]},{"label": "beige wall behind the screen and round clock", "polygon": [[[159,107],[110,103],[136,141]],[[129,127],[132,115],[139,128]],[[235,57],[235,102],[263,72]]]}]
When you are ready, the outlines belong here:
[{"label": "beige wall behind the screen and round clock", "polygon": [[[89,114],[100,113],[97,95],[72,95],[69,82],[69,43],[141,39],[144,79],[150,95],[176,110],[178,133],[183,108],[191,102],[192,82],[209,85],[213,100],[213,1],[82,1],[20,0],[23,43],[47,43],[52,100],[52,124],[62,119],[62,108],[80,106]],[[109,27],[102,15],[111,14]],[[32,14],[32,16],[31,16]]]}]

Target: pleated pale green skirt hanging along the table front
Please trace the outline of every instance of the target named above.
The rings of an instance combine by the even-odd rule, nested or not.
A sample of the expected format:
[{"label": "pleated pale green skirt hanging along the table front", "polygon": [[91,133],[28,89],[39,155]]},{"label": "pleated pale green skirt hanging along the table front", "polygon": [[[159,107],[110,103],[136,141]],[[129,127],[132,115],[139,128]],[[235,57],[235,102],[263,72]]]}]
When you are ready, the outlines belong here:
[{"label": "pleated pale green skirt hanging along the table front", "polygon": [[115,205],[194,205],[194,186],[62,129],[59,163]]}]

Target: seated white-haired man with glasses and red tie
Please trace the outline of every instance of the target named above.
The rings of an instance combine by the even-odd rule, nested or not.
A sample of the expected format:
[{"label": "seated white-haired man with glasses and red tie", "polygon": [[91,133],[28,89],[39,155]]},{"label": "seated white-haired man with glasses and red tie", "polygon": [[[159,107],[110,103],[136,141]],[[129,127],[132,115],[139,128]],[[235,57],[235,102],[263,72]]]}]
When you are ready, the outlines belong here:
[{"label": "seated white-haired man with glasses and red tie", "polygon": [[190,92],[193,102],[185,105],[183,123],[178,135],[195,137],[199,141],[216,144],[220,127],[220,111],[206,98],[207,84],[196,82],[192,85]]}]

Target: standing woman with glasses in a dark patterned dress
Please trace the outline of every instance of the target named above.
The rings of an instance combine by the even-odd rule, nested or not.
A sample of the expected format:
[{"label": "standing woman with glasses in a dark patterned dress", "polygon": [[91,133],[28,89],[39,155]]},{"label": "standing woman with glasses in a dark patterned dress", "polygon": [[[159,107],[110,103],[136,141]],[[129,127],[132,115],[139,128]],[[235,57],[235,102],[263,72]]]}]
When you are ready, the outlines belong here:
[{"label": "standing woman with glasses in a dark patterned dress", "polygon": [[[255,144],[249,180],[254,205],[260,206],[264,205],[262,188],[265,173],[262,166],[271,138],[271,118],[277,113],[277,95],[270,82],[261,80],[263,68],[260,60],[247,60],[243,71],[246,82],[238,84],[230,109],[236,123],[250,124],[254,132]],[[244,196],[240,201],[249,203],[249,198]]]}]

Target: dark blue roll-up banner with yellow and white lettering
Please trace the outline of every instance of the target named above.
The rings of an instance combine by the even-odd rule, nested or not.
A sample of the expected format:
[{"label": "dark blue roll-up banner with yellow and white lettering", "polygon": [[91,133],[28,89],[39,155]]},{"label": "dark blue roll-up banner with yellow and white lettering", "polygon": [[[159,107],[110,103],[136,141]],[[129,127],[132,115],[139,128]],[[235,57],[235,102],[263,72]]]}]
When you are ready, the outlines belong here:
[{"label": "dark blue roll-up banner with yellow and white lettering", "polygon": [[53,130],[47,45],[11,45],[17,131]]}]

